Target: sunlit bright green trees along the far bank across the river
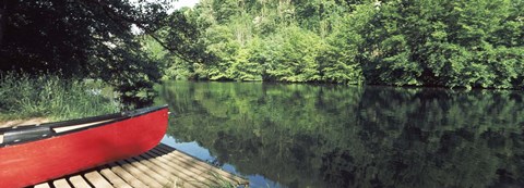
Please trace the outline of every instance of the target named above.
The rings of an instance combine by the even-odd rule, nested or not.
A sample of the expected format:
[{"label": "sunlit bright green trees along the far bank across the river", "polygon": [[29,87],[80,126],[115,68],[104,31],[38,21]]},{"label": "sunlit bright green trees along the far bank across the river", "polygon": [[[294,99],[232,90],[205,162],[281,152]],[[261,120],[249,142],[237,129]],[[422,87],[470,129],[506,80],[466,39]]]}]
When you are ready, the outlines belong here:
[{"label": "sunlit bright green trees along the far bank across the river", "polygon": [[179,52],[165,57],[166,78],[521,89],[522,10],[522,0],[202,0],[158,34]]}]

